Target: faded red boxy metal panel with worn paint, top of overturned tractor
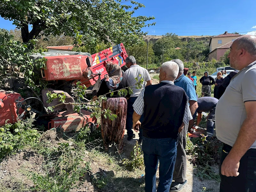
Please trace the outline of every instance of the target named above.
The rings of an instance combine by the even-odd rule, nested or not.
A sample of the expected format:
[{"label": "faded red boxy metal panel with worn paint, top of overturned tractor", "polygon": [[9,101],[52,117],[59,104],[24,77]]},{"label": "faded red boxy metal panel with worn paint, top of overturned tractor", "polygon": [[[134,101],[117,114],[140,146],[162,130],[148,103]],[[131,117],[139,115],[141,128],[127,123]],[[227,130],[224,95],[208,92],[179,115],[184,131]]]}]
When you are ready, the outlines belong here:
[{"label": "faded red boxy metal panel with worn paint, top of overturned tractor", "polygon": [[60,56],[44,56],[46,67],[42,76],[46,81],[81,79],[83,71],[88,67],[85,55],[60,55]]}]

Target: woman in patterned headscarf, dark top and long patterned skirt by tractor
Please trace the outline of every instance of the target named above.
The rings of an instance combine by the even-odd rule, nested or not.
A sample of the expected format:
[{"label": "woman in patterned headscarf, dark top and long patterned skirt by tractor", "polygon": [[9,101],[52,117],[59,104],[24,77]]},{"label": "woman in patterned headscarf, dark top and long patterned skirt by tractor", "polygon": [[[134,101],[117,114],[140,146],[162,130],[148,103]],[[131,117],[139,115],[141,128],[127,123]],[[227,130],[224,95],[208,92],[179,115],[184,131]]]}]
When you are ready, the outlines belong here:
[{"label": "woman in patterned headscarf, dark top and long patterned skirt by tractor", "polygon": [[[108,93],[106,95],[107,100],[102,100],[101,109],[109,109],[112,114],[117,115],[117,118],[111,121],[111,119],[104,117],[104,113],[101,114],[101,135],[106,152],[109,149],[109,145],[115,142],[118,146],[118,152],[122,154],[126,148],[124,145],[124,130],[126,124],[127,99],[130,95],[119,95],[117,90],[129,87],[130,84],[126,74],[122,72],[121,67],[116,63],[107,62],[106,69],[108,75],[105,75],[100,89],[97,92],[97,97]],[[111,96],[109,91],[116,92]]]}]

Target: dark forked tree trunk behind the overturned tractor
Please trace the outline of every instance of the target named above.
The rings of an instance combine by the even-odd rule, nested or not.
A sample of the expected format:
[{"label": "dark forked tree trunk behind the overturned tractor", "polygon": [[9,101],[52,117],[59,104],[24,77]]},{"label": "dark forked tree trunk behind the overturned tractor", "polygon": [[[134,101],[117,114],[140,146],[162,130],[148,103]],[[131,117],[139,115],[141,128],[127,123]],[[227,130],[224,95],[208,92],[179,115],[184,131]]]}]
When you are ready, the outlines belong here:
[{"label": "dark forked tree trunk behind the overturned tractor", "polygon": [[21,27],[21,37],[23,43],[28,43],[29,40],[36,38],[42,31],[40,24],[33,24],[32,30],[28,31],[28,25],[23,24]]}]

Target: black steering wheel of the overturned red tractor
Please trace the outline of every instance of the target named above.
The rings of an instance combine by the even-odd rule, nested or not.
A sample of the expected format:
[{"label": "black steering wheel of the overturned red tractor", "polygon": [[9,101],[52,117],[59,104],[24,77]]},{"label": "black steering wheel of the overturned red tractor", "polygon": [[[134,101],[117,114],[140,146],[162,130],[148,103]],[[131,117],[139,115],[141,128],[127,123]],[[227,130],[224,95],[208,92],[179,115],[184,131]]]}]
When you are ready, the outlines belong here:
[{"label": "black steering wheel of the overturned red tractor", "polygon": [[[22,121],[27,121],[26,119],[33,115],[35,119],[37,119],[42,115],[44,110],[43,102],[36,97],[29,97],[23,101],[17,101],[16,106],[16,113],[18,118]],[[24,109],[22,113],[20,112],[20,108]]]}]

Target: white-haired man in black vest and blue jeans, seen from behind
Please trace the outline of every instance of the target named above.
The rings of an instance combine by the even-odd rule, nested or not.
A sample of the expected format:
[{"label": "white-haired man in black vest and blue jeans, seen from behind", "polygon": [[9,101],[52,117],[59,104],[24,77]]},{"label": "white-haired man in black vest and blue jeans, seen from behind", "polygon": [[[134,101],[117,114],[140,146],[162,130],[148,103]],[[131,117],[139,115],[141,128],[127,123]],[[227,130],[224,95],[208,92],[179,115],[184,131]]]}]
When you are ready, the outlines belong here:
[{"label": "white-haired man in black vest and blue jeans, seen from behind", "polygon": [[[159,84],[149,85],[133,104],[133,129],[143,129],[142,150],[145,164],[145,191],[156,191],[156,170],[159,165],[158,192],[169,192],[177,154],[178,133],[192,119],[188,96],[175,86],[179,67],[165,62],[159,75]],[[140,123],[140,116],[144,120]],[[141,125],[141,126],[140,126]]]}]

